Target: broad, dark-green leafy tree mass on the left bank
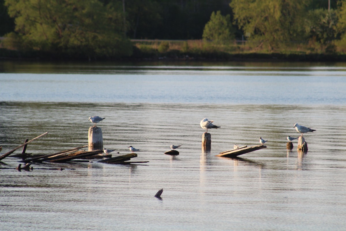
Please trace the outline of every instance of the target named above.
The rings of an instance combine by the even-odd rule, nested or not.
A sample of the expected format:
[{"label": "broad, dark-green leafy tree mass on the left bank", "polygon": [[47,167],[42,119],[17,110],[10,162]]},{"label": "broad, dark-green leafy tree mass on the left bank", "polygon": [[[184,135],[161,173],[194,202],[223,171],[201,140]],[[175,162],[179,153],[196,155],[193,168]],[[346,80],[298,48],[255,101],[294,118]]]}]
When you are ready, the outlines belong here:
[{"label": "broad, dark-green leafy tree mass on the left bank", "polygon": [[[125,56],[131,44],[100,1],[5,0],[22,47],[91,57]],[[121,24],[119,24],[121,25]],[[18,48],[22,48],[18,47]]]}]

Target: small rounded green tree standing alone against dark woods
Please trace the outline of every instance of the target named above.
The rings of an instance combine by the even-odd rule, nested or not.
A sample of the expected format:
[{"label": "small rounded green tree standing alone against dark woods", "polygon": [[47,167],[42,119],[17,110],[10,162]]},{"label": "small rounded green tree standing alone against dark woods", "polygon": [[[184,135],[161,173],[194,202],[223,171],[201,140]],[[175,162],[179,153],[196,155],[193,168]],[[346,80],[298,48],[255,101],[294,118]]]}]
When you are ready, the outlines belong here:
[{"label": "small rounded green tree standing alone against dark woods", "polygon": [[235,30],[230,15],[222,16],[221,11],[211,13],[210,20],[203,30],[203,39],[216,42],[229,42],[235,39]]}]

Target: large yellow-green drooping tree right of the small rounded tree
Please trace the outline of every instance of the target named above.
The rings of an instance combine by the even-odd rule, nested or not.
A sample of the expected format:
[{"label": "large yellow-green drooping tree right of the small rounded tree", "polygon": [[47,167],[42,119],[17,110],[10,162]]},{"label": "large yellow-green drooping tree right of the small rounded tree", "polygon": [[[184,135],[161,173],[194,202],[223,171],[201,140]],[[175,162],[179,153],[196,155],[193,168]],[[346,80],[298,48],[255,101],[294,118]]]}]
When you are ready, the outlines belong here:
[{"label": "large yellow-green drooping tree right of the small rounded tree", "polygon": [[234,23],[249,39],[263,41],[270,49],[281,43],[301,39],[302,20],[309,1],[233,0]]}]

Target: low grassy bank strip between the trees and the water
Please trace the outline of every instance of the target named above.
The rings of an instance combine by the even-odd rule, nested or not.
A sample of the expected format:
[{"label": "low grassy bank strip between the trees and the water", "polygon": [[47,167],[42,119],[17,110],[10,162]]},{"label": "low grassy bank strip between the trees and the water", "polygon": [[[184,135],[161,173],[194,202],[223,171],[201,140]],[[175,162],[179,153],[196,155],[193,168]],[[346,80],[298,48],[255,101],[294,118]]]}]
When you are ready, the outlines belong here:
[{"label": "low grassy bank strip between the trees and the water", "polygon": [[87,56],[62,52],[18,51],[1,48],[0,60],[25,61],[346,61],[344,52],[336,52],[336,46],[311,43],[291,43],[281,49],[268,51],[260,42],[235,41],[230,44],[199,40],[132,39],[131,55]]}]

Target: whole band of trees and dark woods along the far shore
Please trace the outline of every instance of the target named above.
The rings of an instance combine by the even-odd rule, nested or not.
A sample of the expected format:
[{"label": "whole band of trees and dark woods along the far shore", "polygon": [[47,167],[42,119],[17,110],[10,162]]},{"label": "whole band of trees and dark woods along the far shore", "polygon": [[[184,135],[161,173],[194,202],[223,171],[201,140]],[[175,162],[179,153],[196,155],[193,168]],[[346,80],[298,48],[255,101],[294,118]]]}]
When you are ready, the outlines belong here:
[{"label": "whole band of trees and dark woods along the far shore", "polygon": [[130,39],[236,39],[346,50],[346,0],[0,0],[1,46],[71,57],[125,57]]}]

